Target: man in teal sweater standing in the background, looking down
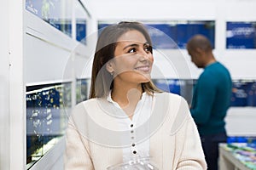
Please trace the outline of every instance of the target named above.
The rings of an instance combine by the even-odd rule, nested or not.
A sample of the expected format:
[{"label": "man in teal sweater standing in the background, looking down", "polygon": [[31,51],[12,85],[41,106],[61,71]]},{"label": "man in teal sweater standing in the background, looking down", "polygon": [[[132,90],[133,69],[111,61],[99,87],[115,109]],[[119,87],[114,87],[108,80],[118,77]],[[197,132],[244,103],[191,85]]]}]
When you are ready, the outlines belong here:
[{"label": "man in teal sweater standing in the background, looking down", "polygon": [[187,50],[191,61],[204,69],[195,84],[190,112],[201,135],[208,169],[217,170],[218,144],[227,139],[224,117],[230,106],[230,72],[214,58],[207,37],[191,37]]}]

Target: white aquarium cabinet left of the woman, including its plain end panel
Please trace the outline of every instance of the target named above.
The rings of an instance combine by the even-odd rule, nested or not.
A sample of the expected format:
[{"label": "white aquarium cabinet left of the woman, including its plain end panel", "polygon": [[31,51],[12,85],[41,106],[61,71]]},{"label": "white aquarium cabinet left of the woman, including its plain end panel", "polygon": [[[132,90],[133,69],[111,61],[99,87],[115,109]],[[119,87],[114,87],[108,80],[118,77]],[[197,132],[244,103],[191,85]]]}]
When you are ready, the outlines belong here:
[{"label": "white aquarium cabinet left of the woman, including its plain end panel", "polygon": [[[90,41],[84,42],[84,37],[94,25],[90,8],[79,0],[11,0],[1,2],[1,7],[0,169],[63,169],[64,127],[76,104],[76,75],[81,75],[77,71],[83,70],[75,69],[74,61],[88,60]],[[62,88],[67,84],[69,105],[61,111]],[[37,97],[43,110],[28,108],[28,101],[34,105]],[[28,142],[42,142],[42,147],[29,150]]]}]

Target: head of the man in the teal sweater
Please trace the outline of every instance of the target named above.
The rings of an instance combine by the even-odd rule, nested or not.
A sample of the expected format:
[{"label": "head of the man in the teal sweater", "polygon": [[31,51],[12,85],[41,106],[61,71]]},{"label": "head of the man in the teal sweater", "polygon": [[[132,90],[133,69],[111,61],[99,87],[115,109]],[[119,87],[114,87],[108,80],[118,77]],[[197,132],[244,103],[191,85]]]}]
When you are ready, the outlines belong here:
[{"label": "head of the man in the teal sweater", "polygon": [[208,64],[215,61],[212,54],[212,45],[207,37],[195,35],[189,39],[187,50],[191,56],[191,61],[198,68],[205,68]]}]

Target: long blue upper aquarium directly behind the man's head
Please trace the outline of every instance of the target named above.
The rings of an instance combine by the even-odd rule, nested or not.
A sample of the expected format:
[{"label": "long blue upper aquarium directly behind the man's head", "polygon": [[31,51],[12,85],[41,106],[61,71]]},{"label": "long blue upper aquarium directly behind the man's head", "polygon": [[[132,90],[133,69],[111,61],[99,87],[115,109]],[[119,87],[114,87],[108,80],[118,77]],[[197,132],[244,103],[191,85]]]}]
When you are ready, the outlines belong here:
[{"label": "long blue upper aquarium directly behind the man's head", "polygon": [[[110,24],[101,22],[98,29],[101,31]],[[146,23],[148,33],[153,42],[153,48],[186,48],[190,37],[202,34],[209,38],[212,48],[215,46],[215,21],[170,21],[166,23]]]}]

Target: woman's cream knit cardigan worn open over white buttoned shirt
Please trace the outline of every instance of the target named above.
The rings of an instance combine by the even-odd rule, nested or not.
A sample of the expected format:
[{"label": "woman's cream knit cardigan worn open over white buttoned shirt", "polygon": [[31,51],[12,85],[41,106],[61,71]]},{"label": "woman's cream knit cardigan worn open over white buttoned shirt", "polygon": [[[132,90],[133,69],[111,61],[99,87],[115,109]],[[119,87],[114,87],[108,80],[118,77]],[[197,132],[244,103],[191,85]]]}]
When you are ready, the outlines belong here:
[{"label": "woman's cream knit cardigan worn open over white buttoned shirt", "polygon": [[[207,169],[201,140],[186,101],[176,94],[155,94],[149,124],[150,157],[160,170]],[[122,133],[106,99],[89,99],[75,106],[67,127],[65,169],[106,170],[122,163]],[[148,126],[145,126],[148,127]]]}]

